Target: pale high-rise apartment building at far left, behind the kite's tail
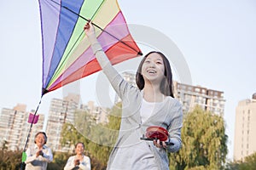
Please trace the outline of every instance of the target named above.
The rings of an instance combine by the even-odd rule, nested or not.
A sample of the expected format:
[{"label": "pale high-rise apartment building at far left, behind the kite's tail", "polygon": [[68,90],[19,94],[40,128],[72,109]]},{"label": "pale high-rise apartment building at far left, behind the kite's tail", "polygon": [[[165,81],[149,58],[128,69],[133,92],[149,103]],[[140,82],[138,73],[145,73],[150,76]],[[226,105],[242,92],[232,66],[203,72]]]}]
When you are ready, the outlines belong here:
[{"label": "pale high-rise apartment building at far left, behind the kite's tail", "polygon": [[[22,150],[26,144],[31,123],[28,121],[30,112],[26,111],[26,105],[16,105],[13,109],[3,108],[0,115],[0,142],[7,142],[9,150]],[[44,126],[44,114],[38,114],[38,123],[32,126],[29,144],[33,144],[33,136],[42,131]]]}]

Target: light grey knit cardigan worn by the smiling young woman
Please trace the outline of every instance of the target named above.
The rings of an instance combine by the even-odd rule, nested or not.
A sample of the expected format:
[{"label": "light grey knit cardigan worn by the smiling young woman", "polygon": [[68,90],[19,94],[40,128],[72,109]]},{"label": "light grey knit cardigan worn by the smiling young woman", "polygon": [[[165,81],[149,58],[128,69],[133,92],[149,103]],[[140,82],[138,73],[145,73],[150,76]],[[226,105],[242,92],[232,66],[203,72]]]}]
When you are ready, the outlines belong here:
[{"label": "light grey knit cardigan worn by the smiling young woman", "polygon": [[[119,169],[113,168],[114,159],[119,159],[119,161],[123,162],[123,167],[121,169],[133,169],[131,165],[128,165],[129,161],[122,160],[127,159],[127,157],[123,158],[119,155],[118,153],[120,152],[118,150],[125,147],[128,147],[131,150],[133,148],[136,149],[136,145],[142,142],[139,136],[142,137],[143,133],[146,132],[146,128],[149,126],[164,127],[169,132],[169,140],[174,143],[174,145],[168,146],[167,149],[159,149],[154,146],[153,142],[144,141],[146,143],[144,144],[145,147],[148,147],[152,151],[154,162],[157,164],[158,169],[169,169],[169,161],[166,151],[176,152],[182,146],[182,106],[177,99],[168,96],[162,102],[160,109],[154,111],[154,116],[150,116],[146,122],[142,123],[140,107],[142,104],[143,92],[137,87],[133,87],[130,83],[125,82],[123,77],[121,77],[113,68],[113,65],[102,51],[102,47],[98,42],[92,42],[92,49],[96,54],[96,59],[102,66],[103,72],[108,77],[109,82],[112,84],[120,99],[122,99],[122,119],[119,128],[119,138],[109,156],[107,169]],[[137,157],[132,157],[131,159],[139,160]],[[127,165],[125,165],[125,163]],[[142,167],[140,169],[144,168]]]}]

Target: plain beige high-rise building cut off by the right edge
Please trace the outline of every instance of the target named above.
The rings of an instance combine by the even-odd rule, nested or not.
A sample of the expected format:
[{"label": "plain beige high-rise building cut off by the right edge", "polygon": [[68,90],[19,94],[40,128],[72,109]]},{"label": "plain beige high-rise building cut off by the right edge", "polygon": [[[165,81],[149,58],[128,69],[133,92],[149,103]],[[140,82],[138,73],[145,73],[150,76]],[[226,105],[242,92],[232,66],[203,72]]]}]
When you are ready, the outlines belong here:
[{"label": "plain beige high-rise building cut off by the right edge", "polygon": [[234,160],[243,161],[256,152],[256,94],[236,106]]}]

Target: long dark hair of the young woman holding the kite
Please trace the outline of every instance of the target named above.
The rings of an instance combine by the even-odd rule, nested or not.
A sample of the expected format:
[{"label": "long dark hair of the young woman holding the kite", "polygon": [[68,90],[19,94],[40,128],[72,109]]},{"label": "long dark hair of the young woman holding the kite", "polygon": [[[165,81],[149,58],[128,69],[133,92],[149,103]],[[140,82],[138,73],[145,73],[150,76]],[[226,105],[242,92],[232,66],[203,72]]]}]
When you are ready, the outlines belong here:
[{"label": "long dark hair of the young woman holding the kite", "polygon": [[169,60],[166,58],[166,56],[158,51],[151,51],[148,54],[146,54],[144,56],[144,58],[142,59],[140,65],[138,66],[137,69],[137,74],[136,74],[136,82],[137,82],[137,87],[142,90],[144,88],[145,85],[145,81],[143,78],[142,73],[142,68],[143,68],[143,63],[145,61],[145,59],[147,59],[149,54],[160,54],[160,56],[162,57],[163,61],[164,61],[164,65],[165,65],[165,77],[163,78],[162,82],[160,82],[160,92],[162,94],[165,94],[166,96],[172,96],[172,98],[174,98],[173,95],[173,88],[172,88],[172,69],[171,69],[171,65],[169,63]]}]

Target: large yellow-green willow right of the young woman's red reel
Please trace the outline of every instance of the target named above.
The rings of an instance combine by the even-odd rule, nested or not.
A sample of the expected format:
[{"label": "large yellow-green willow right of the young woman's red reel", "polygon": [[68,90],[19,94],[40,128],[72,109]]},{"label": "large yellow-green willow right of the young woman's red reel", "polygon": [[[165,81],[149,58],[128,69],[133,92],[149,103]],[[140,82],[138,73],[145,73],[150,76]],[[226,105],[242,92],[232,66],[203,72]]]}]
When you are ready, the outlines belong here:
[{"label": "large yellow-green willow right of the young woman's red reel", "polygon": [[171,169],[223,169],[227,155],[224,119],[201,107],[183,118],[183,147],[170,155]]}]

